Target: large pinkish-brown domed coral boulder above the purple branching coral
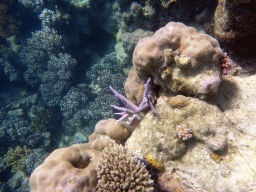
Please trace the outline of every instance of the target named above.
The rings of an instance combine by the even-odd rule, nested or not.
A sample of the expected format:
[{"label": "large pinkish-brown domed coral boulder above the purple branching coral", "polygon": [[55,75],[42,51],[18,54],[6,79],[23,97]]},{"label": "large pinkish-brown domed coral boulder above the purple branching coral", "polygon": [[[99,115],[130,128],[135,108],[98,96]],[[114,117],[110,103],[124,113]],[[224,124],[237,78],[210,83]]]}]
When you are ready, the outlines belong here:
[{"label": "large pinkish-brown domed coral boulder above the purple branching coral", "polygon": [[219,87],[222,55],[215,38],[182,23],[170,22],[152,37],[138,42],[133,66],[140,79],[152,76],[164,90],[207,95]]}]

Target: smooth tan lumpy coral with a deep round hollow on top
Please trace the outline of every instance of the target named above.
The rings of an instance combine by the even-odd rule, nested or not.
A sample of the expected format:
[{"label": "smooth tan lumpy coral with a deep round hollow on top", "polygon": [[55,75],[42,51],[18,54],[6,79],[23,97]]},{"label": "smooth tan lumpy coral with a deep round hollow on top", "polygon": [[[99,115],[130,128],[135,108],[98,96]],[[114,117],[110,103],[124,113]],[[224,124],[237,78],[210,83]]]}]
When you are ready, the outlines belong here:
[{"label": "smooth tan lumpy coral with a deep round hollow on top", "polygon": [[56,149],[30,177],[30,192],[86,192],[97,185],[96,166],[109,141]]}]

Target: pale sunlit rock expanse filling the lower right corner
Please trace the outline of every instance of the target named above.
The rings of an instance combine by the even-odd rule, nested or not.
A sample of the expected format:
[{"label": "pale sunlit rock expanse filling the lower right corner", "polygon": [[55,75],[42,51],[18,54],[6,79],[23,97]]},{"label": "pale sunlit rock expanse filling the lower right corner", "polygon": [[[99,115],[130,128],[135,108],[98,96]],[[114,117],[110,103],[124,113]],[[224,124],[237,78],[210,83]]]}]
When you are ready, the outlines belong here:
[{"label": "pale sunlit rock expanse filling the lower right corner", "polygon": [[[185,96],[160,97],[156,105],[157,116],[146,114],[127,140],[126,147],[141,157],[149,154],[164,162],[165,172],[158,178],[160,190],[254,191],[255,81],[255,75],[224,78],[218,95],[211,99],[214,105]],[[168,100],[172,105],[166,105]],[[182,101],[178,102],[181,105],[175,100]],[[164,108],[166,110],[162,111]],[[167,112],[168,108],[173,110],[172,114]],[[172,128],[166,124],[169,120]],[[193,138],[186,141],[186,153],[176,160],[161,158],[170,147],[165,151],[160,143],[166,143],[166,135],[178,137],[175,131],[170,135],[168,130],[175,130],[181,124],[193,132]],[[157,137],[162,126],[168,130]],[[155,129],[153,134],[151,129]],[[136,138],[133,140],[133,137]],[[156,147],[152,150],[153,146]]]}]

